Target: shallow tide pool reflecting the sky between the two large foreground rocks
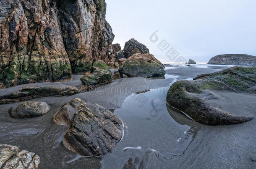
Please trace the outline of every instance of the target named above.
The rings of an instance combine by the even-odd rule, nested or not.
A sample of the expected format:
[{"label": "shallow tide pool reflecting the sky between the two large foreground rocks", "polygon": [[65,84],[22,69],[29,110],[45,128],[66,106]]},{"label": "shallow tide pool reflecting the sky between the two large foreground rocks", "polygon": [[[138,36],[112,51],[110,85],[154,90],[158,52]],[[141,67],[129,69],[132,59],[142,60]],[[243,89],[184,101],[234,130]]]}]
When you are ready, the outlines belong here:
[{"label": "shallow tide pool reflecting the sky between the two large foreground rocks", "polygon": [[112,153],[104,156],[102,168],[169,168],[173,156],[184,154],[199,124],[167,106],[167,90],[132,94],[114,111],[125,124],[125,136]]}]

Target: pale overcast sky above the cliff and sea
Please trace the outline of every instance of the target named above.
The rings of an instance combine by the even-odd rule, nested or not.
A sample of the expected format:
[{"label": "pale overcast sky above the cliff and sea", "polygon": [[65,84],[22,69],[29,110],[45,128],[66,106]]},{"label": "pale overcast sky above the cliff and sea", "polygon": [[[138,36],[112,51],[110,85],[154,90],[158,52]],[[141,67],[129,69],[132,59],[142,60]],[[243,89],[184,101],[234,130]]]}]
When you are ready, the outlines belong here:
[{"label": "pale overcast sky above the cliff and sea", "polygon": [[[227,53],[256,56],[256,0],[106,0],[106,3],[106,18],[115,34],[113,43],[120,43],[123,48],[126,41],[135,38],[164,63],[173,62],[166,56],[171,48],[185,60],[191,58],[198,63]],[[157,42],[155,36],[150,40],[156,30]]]}]

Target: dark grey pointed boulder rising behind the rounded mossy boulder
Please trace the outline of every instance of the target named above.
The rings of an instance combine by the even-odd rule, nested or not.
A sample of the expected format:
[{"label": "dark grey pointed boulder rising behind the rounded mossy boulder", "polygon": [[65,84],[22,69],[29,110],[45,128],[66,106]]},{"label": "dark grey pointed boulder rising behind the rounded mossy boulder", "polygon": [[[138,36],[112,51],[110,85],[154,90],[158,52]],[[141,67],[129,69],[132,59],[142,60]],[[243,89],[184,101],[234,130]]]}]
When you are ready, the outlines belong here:
[{"label": "dark grey pointed boulder rising behind the rounded mossy boulder", "polygon": [[123,55],[125,58],[129,58],[131,55],[136,53],[149,54],[149,49],[146,48],[145,45],[139,43],[135,39],[131,39],[125,43],[125,47],[123,48]]}]

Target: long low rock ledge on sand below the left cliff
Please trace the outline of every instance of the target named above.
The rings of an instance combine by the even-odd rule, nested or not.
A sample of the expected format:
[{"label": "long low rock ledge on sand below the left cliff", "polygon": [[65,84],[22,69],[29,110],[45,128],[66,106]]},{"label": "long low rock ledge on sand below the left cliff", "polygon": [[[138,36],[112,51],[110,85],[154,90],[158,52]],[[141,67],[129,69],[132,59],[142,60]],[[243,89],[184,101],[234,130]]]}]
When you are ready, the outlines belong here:
[{"label": "long low rock ledge on sand below the left cliff", "polygon": [[77,93],[76,87],[63,85],[59,82],[27,84],[0,90],[0,104],[27,101],[40,97],[71,96]]}]

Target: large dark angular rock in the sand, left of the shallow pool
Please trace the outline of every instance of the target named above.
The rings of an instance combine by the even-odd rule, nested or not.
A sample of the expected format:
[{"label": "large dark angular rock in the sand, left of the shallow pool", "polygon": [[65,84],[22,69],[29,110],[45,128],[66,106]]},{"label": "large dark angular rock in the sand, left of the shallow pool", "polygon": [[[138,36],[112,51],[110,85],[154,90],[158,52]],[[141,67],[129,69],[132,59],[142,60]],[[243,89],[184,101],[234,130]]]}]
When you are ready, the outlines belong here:
[{"label": "large dark angular rock in the sand, left of the shallow pool", "polygon": [[83,156],[103,156],[122,139],[122,121],[111,111],[91,105],[89,109],[80,98],[63,105],[53,116],[53,123],[68,127],[64,146]]}]

